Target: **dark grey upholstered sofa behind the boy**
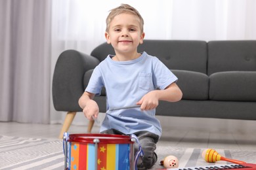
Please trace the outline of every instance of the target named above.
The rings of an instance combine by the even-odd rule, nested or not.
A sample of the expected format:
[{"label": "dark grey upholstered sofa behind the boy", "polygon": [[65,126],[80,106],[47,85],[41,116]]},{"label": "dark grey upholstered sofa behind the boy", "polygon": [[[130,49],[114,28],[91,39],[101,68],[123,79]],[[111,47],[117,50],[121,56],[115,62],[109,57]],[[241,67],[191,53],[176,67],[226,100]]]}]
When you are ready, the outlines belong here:
[{"label": "dark grey upholstered sofa behind the boy", "polygon": [[[157,56],[179,78],[177,103],[161,101],[157,115],[256,120],[256,41],[144,40],[138,52]],[[77,101],[93,68],[114,54],[100,44],[91,55],[75,50],[60,54],[53,75],[56,110],[81,112]],[[105,92],[95,97],[106,111]]]}]

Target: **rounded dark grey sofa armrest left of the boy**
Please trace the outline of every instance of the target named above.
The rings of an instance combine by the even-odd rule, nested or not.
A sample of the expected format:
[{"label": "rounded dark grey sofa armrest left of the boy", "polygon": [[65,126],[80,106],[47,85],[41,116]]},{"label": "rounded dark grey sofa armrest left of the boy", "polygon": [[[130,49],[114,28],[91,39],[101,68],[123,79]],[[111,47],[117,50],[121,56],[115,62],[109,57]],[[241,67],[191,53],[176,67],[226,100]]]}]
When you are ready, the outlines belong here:
[{"label": "rounded dark grey sofa armrest left of the boy", "polygon": [[81,111],[78,99],[84,92],[83,75],[100,61],[76,50],[66,50],[56,61],[53,74],[53,105],[59,111]]}]

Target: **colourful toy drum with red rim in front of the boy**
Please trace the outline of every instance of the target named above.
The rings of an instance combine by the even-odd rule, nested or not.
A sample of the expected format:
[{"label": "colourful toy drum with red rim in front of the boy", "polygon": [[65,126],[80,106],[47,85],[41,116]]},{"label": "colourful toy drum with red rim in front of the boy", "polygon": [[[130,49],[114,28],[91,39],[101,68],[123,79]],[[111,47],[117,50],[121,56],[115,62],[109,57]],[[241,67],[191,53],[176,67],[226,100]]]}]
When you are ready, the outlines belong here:
[{"label": "colourful toy drum with red rim in front of the boy", "polygon": [[64,133],[65,169],[133,169],[134,142],[127,135]]}]

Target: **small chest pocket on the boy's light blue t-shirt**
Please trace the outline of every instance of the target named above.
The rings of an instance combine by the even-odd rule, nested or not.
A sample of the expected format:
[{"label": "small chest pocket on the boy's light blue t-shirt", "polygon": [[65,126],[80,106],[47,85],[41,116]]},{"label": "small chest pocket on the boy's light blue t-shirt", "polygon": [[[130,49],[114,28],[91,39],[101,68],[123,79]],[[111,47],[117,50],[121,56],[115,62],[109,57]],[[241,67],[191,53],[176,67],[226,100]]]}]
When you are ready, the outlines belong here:
[{"label": "small chest pocket on the boy's light blue t-shirt", "polygon": [[143,90],[154,90],[152,73],[139,73],[139,88]]}]

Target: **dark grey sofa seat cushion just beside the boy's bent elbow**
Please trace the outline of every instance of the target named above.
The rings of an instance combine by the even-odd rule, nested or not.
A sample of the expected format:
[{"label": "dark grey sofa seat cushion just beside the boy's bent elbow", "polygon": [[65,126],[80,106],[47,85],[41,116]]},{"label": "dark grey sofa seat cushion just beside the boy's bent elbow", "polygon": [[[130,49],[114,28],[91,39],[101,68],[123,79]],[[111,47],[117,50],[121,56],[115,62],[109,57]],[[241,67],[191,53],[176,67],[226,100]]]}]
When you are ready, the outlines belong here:
[{"label": "dark grey sofa seat cushion just beside the boy's bent elbow", "polygon": [[177,85],[183,93],[182,99],[209,99],[209,77],[194,71],[171,70],[179,79]]}]

